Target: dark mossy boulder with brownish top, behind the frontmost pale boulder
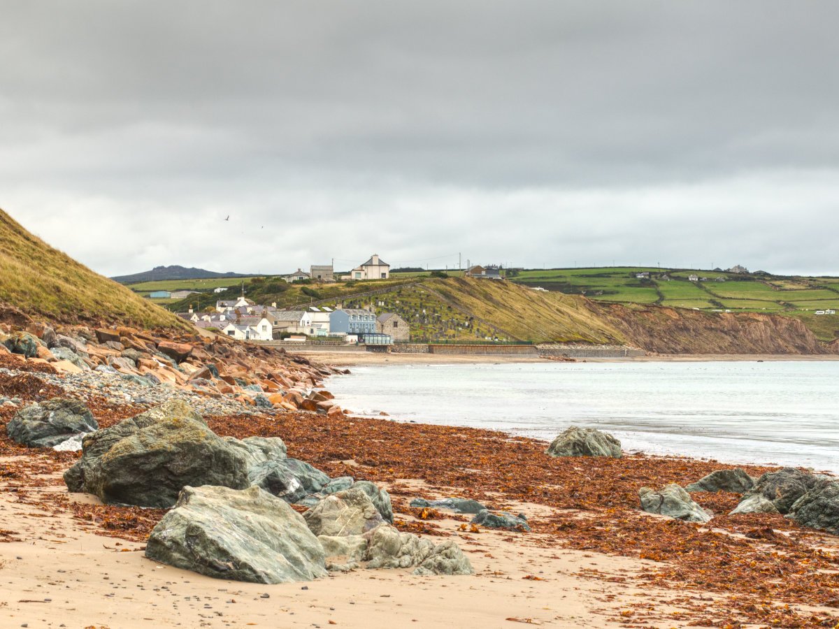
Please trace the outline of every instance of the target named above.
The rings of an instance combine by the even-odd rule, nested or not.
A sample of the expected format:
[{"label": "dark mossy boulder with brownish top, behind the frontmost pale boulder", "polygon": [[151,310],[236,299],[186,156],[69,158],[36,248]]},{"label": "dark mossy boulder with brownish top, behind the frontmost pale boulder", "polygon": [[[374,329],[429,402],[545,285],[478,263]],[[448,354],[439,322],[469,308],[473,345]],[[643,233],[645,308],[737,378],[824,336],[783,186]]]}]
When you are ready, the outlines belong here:
[{"label": "dark mossy boulder with brownish top, behind the frontmost pale boulder", "polygon": [[185,486],[250,485],[242,451],[180,400],[88,435],[65,482],[102,502],[138,507],[171,507]]}]

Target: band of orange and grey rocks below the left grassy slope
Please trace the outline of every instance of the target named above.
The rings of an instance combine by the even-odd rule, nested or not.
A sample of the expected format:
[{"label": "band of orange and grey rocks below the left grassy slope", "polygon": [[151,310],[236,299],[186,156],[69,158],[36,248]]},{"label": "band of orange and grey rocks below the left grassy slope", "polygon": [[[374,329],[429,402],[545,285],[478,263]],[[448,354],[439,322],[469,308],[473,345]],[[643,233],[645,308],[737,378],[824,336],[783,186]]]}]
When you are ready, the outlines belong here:
[{"label": "band of orange and grey rocks below the left grassy slope", "polygon": [[235,402],[240,412],[243,407],[343,414],[330,392],[318,390],[323,378],[338,370],[282,349],[245,348],[224,337],[172,339],[128,327],[55,330],[30,322],[25,330],[0,325],[0,346],[62,376],[79,377],[80,382],[118,378],[140,387],[132,398],[162,402],[172,392],[183,392]]}]

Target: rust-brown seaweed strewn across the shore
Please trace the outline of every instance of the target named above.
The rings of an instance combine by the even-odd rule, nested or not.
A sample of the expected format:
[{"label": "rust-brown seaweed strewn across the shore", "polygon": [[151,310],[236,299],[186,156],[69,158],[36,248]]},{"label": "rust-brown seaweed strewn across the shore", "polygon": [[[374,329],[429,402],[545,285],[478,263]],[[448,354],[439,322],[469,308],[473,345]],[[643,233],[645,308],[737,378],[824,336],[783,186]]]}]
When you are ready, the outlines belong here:
[{"label": "rust-brown seaweed strewn across the shore", "polygon": [[[25,368],[25,363],[20,366]],[[18,395],[30,401],[55,392],[23,387]],[[78,395],[71,388],[62,393]],[[143,410],[115,398],[87,395],[86,402],[102,428]],[[0,423],[7,424],[16,412],[11,406],[0,408]],[[496,538],[519,548],[522,567],[536,549],[548,552],[548,557],[577,552],[600,558],[597,567],[578,565],[572,580],[597,584],[604,603],[610,597],[619,600],[618,606],[603,606],[603,623],[608,618],[624,626],[664,626],[657,625],[664,619],[666,626],[804,627],[839,622],[836,538],[779,514],[718,515],[700,525],[639,510],[640,487],[686,485],[727,467],[716,461],[644,455],[555,459],[545,455],[544,442],[490,430],[319,413],[264,414],[248,408],[248,413],[207,415],[206,421],[221,436],[281,437],[289,455],[330,476],[351,475],[387,487],[393,495],[394,523],[401,530],[451,536],[467,552],[480,553],[488,538]],[[4,433],[4,493],[14,496],[14,502],[45,509],[45,524],[51,517],[70,517],[74,526],[124,540],[115,543],[142,544],[163,516],[164,510],[79,502],[62,491],[57,476],[76,460],[76,453],[23,448]],[[752,476],[771,469],[745,467]],[[471,527],[466,518],[409,507],[409,501],[420,496],[468,497],[494,509],[528,512],[532,533],[487,532]],[[730,512],[740,498],[725,492],[693,496],[717,514]],[[27,543],[27,533],[3,528],[9,544]],[[610,562],[619,558],[631,560],[631,569],[613,569],[617,564]],[[492,564],[490,557],[486,559]],[[477,578],[487,578],[486,572]],[[536,583],[550,580],[543,572],[524,576]],[[628,590],[649,590],[649,596],[627,600]],[[535,611],[529,617],[534,616]]]}]

